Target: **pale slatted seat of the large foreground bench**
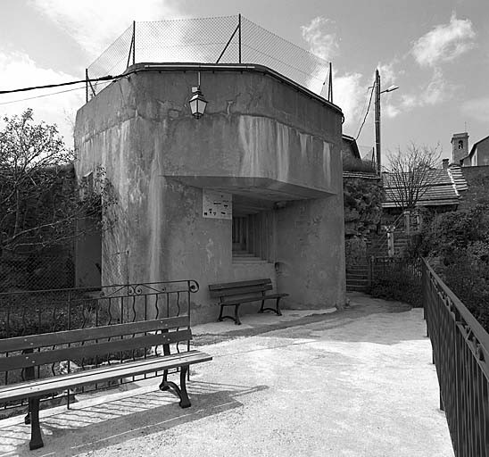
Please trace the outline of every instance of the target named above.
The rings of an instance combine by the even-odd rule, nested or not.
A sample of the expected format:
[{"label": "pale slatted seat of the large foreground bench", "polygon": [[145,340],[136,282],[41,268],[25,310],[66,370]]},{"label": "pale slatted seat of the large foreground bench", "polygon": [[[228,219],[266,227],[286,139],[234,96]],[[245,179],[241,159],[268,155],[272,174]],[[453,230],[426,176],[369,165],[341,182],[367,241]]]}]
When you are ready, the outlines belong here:
[{"label": "pale slatted seat of the large foreground bench", "polygon": [[117,365],[112,364],[97,369],[58,375],[54,378],[43,378],[9,386],[1,386],[0,401],[13,401],[36,395],[47,395],[73,386],[87,386],[89,384],[95,384],[95,382],[128,378],[133,375],[141,375],[156,370],[170,370],[181,365],[191,365],[193,363],[211,360],[212,357],[208,353],[194,350],[165,355],[163,357],[153,357],[144,361],[131,361]]}]

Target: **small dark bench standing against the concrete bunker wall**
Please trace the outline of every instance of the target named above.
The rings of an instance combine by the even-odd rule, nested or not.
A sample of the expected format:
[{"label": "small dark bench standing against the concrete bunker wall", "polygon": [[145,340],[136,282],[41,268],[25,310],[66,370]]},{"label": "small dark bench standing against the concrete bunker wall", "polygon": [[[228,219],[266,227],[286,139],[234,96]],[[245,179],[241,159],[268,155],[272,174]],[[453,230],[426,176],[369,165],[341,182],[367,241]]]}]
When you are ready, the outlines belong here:
[{"label": "small dark bench standing against the concrete bunker wall", "polygon": [[[267,290],[272,290],[273,286],[271,284],[271,279],[254,279],[253,281],[238,281],[238,282],[226,282],[220,284],[210,284],[209,292],[211,293],[211,298],[218,298],[220,302],[220,315],[219,321],[224,319],[234,320],[236,325],[241,325],[241,320],[239,320],[238,310],[241,303],[250,302],[261,302],[261,308],[259,312],[273,311],[276,312],[278,316],[281,316],[279,302],[280,299],[288,294],[266,294]],[[275,308],[265,308],[266,300],[277,300]],[[224,307],[234,306],[235,315],[233,316],[223,316],[222,312]]]}]

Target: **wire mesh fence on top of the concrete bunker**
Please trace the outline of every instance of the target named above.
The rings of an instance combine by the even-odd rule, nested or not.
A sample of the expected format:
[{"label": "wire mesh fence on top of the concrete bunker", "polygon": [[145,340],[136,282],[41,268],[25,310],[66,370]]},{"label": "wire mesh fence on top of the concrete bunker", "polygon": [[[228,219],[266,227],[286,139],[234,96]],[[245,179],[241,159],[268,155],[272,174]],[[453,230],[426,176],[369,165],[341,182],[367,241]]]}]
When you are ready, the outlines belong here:
[{"label": "wire mesh fence on top of the concrete bunker", "polygon": [[[135,22],[87,68],[87,75],[118,75],[137,62],[260,64],[320,96],[327,94],[327,61],[239,15]],[[103,87],[93,84],[92,95]]]}]

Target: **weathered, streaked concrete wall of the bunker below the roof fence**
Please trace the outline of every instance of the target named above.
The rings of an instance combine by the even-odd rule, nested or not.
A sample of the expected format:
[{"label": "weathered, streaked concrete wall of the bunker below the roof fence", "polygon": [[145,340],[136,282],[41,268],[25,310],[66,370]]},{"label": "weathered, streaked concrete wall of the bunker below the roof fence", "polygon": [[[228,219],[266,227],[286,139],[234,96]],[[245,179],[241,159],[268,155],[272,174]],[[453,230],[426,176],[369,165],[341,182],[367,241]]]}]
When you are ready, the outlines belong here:
[{"label": "weathered, streaked concrete wall of the bunker below the roof fence", "polygon": [[[193,320],[214,320],[207,286],[236,276],[232,225],[203,218],[202,187],[251,192],[287,201],[277,234],[277,261],[289,269],[278,280],[278,290],[291,293],[287,304],[341,305],[341,112],[263,73],[203,71],[210,103],[195,120],[186,102],[196,79],[195,71],[137,73],[77,114],[77,174],[103,165],[119,198],[103,266],[110,254],[128,252],[119,258],[130,282],[194,278],[201,289]],[[112,273],[104,268],[103,284]]]}]

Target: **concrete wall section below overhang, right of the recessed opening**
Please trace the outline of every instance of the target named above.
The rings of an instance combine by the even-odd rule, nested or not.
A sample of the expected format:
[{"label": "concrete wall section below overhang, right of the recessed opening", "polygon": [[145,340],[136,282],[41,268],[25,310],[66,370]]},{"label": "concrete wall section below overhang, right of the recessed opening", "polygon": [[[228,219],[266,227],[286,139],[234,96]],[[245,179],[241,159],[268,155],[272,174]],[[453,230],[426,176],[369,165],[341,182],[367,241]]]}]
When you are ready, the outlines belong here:
[{"label": "concrete wall section below overhang, right of the recessed opening", "polygon": [[294,202],[278,215],[278,290],[285,306],[344,304],[343,195]]}]

